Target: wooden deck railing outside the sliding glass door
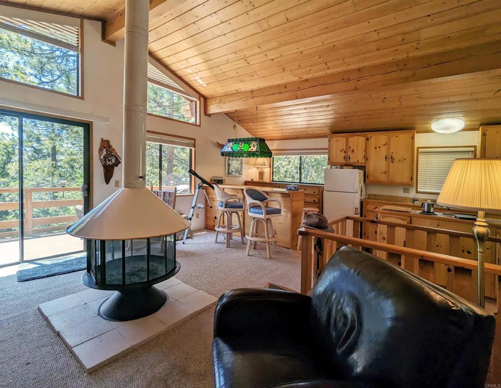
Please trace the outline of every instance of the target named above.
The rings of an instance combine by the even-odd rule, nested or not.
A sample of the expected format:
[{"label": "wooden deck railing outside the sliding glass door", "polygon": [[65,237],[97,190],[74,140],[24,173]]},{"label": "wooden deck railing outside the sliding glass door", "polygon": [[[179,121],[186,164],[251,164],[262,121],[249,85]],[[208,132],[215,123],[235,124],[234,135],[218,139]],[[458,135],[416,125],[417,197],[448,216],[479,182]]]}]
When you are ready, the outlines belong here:
[{"label": "wooden deck railing outside the sliding glass door", "polygon": [[[25,187],[24,188],[24,209],[25,209],[25,217],[24,217],[24,229],[25,236],[32,236],[37,233],[54,231],[54,230],[63,230],[67,225],[55,225],[55,226],[46,226],[46,227],[37,227],[35,226],[43,226],[50,225],[54,223],[70,223],[74,222],[78,219],[76,214],[72,215],[58,215],[52,217],[33,217],[33,209],[41,208],[41,207],[63,207],[63,206],[75,206],[75,205],[83,205],[83,199],[56,199],[56,200],[33,200],[34,192],[65,192],[65,191],[80,191],[80,187]],[[17,188],[12,187],[4,187],[0,188],[0,193],[18,192]],[[0,210],[18,210],[19,202],[0,202]],[[19,227],[19,219],[12,219],[8,221],[0,221],[0,230],[2,229],[10,229],[10,228],[18,228]],[[17,236],[19,231],[6,231],[0,232],[0,237],[12,237]]]}]

